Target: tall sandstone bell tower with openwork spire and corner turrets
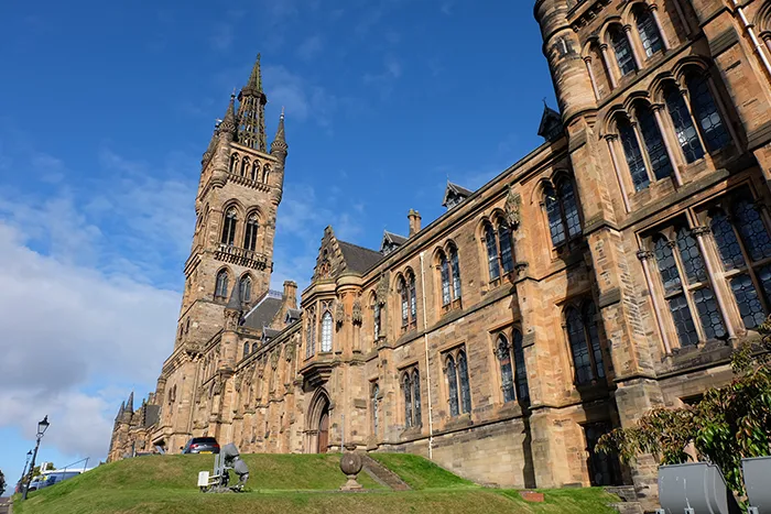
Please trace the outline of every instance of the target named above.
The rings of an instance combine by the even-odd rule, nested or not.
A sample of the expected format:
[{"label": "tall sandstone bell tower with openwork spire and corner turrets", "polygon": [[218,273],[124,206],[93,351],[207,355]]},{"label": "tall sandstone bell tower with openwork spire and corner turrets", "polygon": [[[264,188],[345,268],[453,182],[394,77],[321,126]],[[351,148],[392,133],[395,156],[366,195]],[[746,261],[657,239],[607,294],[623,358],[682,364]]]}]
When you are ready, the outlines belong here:
[{"label": "tall sandstone bell tower with openwork spire and corner turrets", "polygon": [[258,54],[246,86],[231,95],[203,155],[175,348],[205,345],[221,328],[236,283],[241,285],[245,310],[270,286],[289,146],[282,112],[268,151],[267,102]]}]

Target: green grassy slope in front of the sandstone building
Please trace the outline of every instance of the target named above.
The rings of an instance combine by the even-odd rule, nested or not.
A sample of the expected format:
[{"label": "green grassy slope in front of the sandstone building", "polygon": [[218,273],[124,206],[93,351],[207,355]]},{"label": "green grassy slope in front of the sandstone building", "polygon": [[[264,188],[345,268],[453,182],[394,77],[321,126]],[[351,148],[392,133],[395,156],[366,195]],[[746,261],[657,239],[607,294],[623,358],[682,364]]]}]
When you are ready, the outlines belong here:
[{"label": "green grassy slope in front of the sandstone building", "polygon": [[31,493],[14,504],[15,514],[214,514],[286,512],[359,514],[604,514],[612,501],[601,490],[546,491],[546,503],[532,504],[515,491],[486,490],[414,456],[374,456],[415,490],[383,491],[366,473],[359,481],[372,493],[330,492],[345,482],[339,456],[243,456],[250,470],[243,494],[203,494],[195,488],[210,456],[142,457],[99,467],[84,475]]}]

